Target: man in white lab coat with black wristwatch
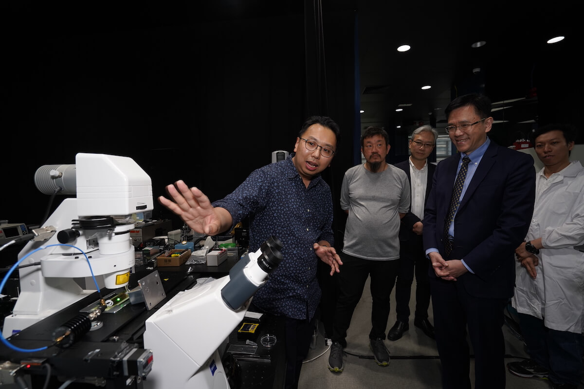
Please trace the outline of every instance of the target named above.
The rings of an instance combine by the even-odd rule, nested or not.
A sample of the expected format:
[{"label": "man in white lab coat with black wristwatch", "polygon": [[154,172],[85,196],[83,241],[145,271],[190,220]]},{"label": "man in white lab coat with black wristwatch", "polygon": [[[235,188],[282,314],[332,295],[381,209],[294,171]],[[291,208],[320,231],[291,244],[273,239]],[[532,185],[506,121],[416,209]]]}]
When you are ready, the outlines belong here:
[{"label": "man in white lab coat with black wristwatch", "polygon": [[582,379],[584,330],[584,168],[569,161],[575,129],[548,125],[534,132],[544,167],[526,242],[517,247],[513,307],[530,358],[507,363],[519,377],[549,378],[552,388]]}]

